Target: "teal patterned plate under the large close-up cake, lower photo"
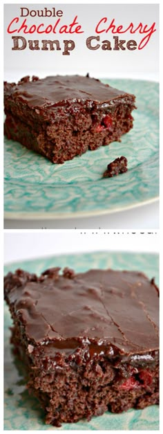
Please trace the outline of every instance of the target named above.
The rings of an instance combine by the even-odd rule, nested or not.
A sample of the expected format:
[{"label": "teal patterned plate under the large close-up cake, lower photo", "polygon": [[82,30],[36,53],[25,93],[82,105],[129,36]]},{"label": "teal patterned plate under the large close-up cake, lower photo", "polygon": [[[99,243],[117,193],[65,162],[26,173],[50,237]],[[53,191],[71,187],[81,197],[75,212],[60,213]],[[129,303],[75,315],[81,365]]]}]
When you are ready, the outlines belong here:
[{"label": "teal patterned plate under the large close-up cake, lower photo", "polygon": [[[144,271],[149,278],[155,276],[155,282],[159,280],[159,257],[153,254],[135,253],[107,253],[96,252],[80,255],[61,255],[45,257],[38,260],[23,261],[8,264],[5,273],[15,271],[18,267],[32,273],[41,273],[51,266],[69,266],[75,271],[86,271],[90,268],[113,268]],[[90,422],[82,419],[77,424],[63,424],[61,428],[44,424],[44,412],[39,407],[36,399],[28,395],[23,383],[22,366],[12,354],[9,338],[11,326],[8,307],[4,308],[5,314],[5,430],[159,430],[159,408],[150,406],[144,410],[128,410],[119,415],[106,412],[99,417],[93,417]]]}]

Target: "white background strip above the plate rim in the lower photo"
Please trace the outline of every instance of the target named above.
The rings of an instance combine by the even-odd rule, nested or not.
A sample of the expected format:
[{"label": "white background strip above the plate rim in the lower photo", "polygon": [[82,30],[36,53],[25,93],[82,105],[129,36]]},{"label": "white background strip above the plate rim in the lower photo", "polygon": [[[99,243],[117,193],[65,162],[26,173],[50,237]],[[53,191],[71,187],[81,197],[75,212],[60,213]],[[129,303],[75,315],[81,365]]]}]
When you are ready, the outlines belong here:
[{"label": "white background strip above the plate rim in the lower photo", "polygon": [[61,253],[90,251],[159,252],[155,233],[108,233],[108,231],[61,231],[46,233],[5,233],[4,263]]}]

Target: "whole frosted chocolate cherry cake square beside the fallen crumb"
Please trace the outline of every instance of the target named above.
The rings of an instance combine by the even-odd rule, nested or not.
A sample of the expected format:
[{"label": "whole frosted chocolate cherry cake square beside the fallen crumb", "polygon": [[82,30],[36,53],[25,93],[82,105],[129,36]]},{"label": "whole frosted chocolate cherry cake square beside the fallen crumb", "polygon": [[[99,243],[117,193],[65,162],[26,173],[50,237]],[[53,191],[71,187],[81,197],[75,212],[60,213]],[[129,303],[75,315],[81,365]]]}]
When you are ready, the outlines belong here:
[{"label": "whole frosted chocolate cherry cake square beside the fallen crumb", "polygon": [[133,127],[135,96],[88,75],[4,83],[6,136],[52,163],[95,150]]}]

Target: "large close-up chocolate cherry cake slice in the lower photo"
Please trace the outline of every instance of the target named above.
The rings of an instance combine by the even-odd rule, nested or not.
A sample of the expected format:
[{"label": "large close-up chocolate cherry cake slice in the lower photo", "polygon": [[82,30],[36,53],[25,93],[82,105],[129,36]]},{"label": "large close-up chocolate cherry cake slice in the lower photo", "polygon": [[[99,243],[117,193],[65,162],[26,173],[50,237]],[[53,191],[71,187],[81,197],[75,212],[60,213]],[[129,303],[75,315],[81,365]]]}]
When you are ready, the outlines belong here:
[{"label": "large close-up chocolate cherry cake slice in the lower photo", "polygon": [[4,279],[12,343],[46,424],[159,402],[158,297],[131,271],[59,268]]}]

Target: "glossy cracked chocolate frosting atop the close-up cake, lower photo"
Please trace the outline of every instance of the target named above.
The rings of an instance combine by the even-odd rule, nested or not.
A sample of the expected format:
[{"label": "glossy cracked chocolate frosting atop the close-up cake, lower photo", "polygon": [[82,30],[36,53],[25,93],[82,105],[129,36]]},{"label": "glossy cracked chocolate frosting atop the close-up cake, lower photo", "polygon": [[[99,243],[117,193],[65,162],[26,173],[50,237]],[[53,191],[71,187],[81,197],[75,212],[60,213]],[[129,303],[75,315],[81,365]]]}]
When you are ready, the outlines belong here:
[{"label": "glossy cracked chocolate frosting atop the close-up cake, lower photo", "polygon": [[81,341],[122,354],[159,347],[158,289],[139,272],[50,269],[37,278],[18,270],[6,276],[5,296],[32,345],[68,349]]}]

